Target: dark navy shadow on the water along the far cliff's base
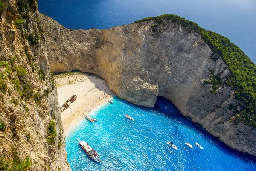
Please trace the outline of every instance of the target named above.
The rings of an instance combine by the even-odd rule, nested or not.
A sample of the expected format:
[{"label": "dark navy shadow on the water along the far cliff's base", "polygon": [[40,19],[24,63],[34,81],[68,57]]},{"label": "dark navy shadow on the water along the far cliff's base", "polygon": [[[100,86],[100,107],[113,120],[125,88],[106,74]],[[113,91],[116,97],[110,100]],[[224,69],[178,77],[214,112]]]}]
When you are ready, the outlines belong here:
[{"label": "dark navy shadow on the water along the far cliff's base", "polygon": [[[191,119],[186,118],[185,116],[183,116],[180,111],[177,109],[177,107],[175,107],[174,104],[172,104],[171,101],[169,101],[168,99],[164,98],[164,97],[157,97],[157,102],[154,105],[154,110],[156,110],[157,112],[163,113],[166,116],[171,117],[172,119],[176,119],[179,122],[183,122],[184,124],[195,128],[196,130],[198,130],[200,133],[202,133],[207,139],[210,139],[213,142],[218,143],[218,145],[224,149],[224,152],[228,155],[230,154],[234,154],[234,155],[238,155],[241,157],[241,159],[244,162],[248,162],[249,160],[252,160],[253,162],[256,163],[256,157],[253,157],[250,154],[245,154],[242,153],[240,151],[234,150],[232,148],[230,148],[229,146],[227,146],[226,144],[224,144],[224,142],[218,140],[217,138],[215,138],[214,136],[212,136],[210,133],[208,133],[207,131],[205,131],[201,125],[198,125],[197,123],[194,123],[191,121]],[[178,133],[178,126],[176,126],[177,131],[175,133]],[[175,134],[174,133],[174,134]]]}]

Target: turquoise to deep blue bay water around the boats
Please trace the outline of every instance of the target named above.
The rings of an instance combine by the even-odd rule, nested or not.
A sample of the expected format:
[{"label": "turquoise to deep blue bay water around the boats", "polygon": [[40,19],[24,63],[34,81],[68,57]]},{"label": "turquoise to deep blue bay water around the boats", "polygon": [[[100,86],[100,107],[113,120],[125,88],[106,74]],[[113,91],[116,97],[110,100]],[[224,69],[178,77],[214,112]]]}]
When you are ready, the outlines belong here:
[{"label": "turquoise to deep blue bay water around the boats", "polygon": [[[125,114],[134,118],[131,121]],[[254,171],[256,160],[231,150],[184,118],[166,99],[154,109],[137,107],[117,97],[90,113],[98,122],[82,119],[66,137],[73,171]],[[98,151],[93,162],[77,144],[85,140]],[[172,141],[178,151],[166,142]],[[189,142],[194,149],[185,145]],[[204,150],[195,146],[198,142]]]}]

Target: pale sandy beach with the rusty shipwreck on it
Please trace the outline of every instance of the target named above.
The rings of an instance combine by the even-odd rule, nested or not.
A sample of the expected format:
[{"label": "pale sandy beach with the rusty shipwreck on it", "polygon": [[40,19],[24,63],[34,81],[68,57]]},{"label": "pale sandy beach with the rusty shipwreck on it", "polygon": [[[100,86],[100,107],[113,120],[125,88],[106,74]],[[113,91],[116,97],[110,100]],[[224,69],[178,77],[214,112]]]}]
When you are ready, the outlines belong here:
[{"label": "pale sandy beach with the rusty shipwreck on it", "polygon": [[108,103],[115,94],[108,89],[106,81],[97,75],[69,72],[55,75],[58,102],[60,106],[71,96],[76,101],[61,113],[64,131],[67,135],[76,124],[97,106]]}]

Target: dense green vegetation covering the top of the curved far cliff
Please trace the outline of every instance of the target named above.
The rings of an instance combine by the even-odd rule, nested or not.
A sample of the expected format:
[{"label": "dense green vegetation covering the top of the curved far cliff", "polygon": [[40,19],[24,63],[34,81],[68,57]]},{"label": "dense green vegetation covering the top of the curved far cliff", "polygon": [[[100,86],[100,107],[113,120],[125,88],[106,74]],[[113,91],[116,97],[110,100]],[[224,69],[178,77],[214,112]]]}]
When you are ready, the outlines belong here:
[{"label": "dense green vegetation covering the top of the curved far cliff", "polygon": [[[236,99],[240,101],[239,105],[241,106],[241,110],[237,111],[238,115],[235,121],[256,127],[256,66],[253,61],[228,38],[203,29],[198,24],[177,15],[165,14],[148,17],[134,23],[151,20],[154,20],[154,24],[151,26],[153,32],[160,32],[159,26],[177,23],[184,28],[194,30],[201,36],[212,52],[224,60],[231,72],[225,83],[233,88]],[[214,78],[212,78],[212,81],[214,81]]]}]

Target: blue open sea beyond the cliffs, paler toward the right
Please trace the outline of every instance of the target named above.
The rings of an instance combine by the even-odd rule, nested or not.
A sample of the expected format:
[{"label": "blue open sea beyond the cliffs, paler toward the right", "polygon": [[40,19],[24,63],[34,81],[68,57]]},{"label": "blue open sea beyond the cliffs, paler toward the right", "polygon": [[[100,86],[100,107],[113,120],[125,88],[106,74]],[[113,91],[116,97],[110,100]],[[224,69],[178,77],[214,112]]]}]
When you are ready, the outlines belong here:
[{"label": "blue open sea beyond the cliffs, paler toward the right", "polygon": [[70,29],[109,29],[176,14],[226,36],[256,63],[256,0],[38,0],[38,7]]}]

